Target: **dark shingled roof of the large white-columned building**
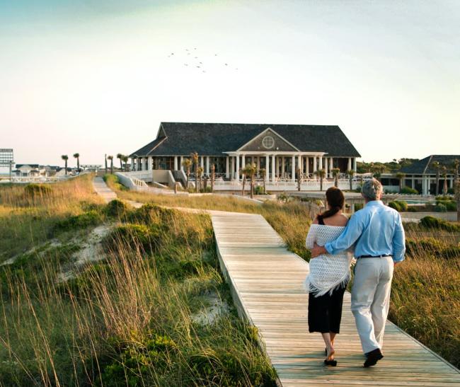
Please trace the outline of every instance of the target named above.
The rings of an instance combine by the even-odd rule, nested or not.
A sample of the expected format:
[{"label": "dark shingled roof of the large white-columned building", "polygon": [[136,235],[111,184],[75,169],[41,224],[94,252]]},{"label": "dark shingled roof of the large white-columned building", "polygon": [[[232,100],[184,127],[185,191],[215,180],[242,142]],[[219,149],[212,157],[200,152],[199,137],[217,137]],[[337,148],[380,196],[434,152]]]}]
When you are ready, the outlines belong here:
[{"label": "dark shingled roof of the large white-columned building", "polygon": [[[224,156],[236,151],[270,127],[300,151],[326,152],[328,156],[360,157],[349,139],[336,125],[212,124],[195,122],[161,122],[159,137],[136,156]],[[166,134],[166,137],[165,137]]]}]

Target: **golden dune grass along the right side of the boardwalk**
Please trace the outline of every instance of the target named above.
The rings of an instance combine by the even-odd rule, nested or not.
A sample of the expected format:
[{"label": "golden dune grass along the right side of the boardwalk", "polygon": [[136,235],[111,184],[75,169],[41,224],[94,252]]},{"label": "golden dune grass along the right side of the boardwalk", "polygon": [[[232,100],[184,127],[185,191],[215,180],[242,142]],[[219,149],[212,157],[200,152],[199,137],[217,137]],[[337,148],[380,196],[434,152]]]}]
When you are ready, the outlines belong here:
[{"label": "golden dune grass along the right side of the boardwalk", "polygon": [[[241,203],[219,196],[169,197],[118,192],[139,202],[221,209],[265,216],[289,249],[309,260],[304,240],[311,214],[302,204]],[[406,224],[408,254],[393,277],[389,318],[455,366],[460,366],[460,233]]]}]

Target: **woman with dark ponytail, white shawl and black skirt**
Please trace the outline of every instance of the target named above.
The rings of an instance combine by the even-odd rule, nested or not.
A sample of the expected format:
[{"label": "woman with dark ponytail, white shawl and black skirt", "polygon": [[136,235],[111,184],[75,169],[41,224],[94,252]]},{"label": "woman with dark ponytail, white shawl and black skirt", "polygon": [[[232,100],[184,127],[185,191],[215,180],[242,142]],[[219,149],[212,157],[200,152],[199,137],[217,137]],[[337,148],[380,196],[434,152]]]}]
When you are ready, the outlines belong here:
[{"label": "woman with dark ponytail, white shawl and black skirt", "polygon": [[[347,216],[342,212],[345,197],[337,187],[326,191],[328,210],[319,214],[310,226],[306,236],[306,248],[313,248],[333,241],[347,225]],[[326,343],[324,364],[336,366],[334,360],[334,339],[340,330],[343,294],[350,281],[352,254],[323,254],[310,260],[310,272],[305,279],[309,291],[309,332],[320,332]]]}]

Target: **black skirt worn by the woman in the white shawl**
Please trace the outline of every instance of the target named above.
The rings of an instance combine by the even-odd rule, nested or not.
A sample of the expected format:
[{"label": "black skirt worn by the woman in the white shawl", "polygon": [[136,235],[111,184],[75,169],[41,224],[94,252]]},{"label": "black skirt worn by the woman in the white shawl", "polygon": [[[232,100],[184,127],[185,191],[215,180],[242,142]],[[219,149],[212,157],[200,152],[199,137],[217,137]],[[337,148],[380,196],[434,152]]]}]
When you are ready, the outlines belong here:
[{"label": "black skirt worn by the woman in the white shawl", "polygon": [[315,297],[309,294],[309,332],[339,333],[342,318],[343,294],[347,285],[334,289],[332,294]]}]

